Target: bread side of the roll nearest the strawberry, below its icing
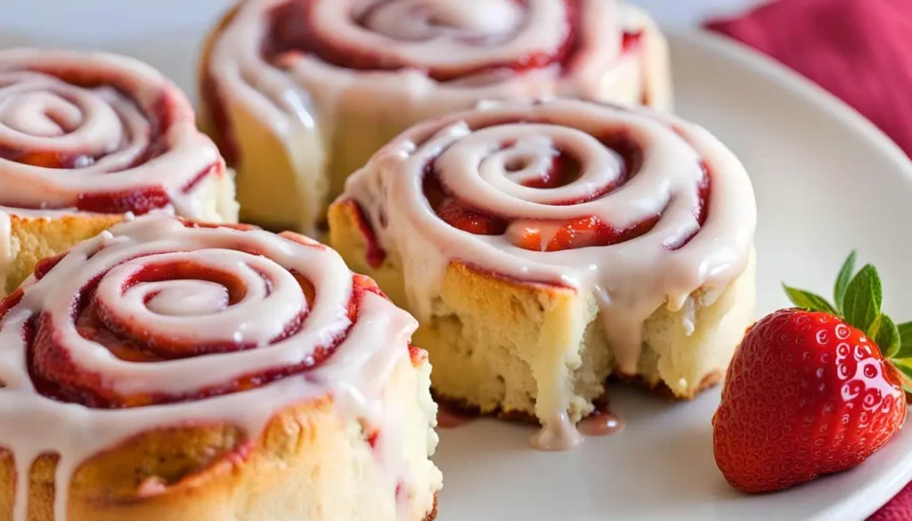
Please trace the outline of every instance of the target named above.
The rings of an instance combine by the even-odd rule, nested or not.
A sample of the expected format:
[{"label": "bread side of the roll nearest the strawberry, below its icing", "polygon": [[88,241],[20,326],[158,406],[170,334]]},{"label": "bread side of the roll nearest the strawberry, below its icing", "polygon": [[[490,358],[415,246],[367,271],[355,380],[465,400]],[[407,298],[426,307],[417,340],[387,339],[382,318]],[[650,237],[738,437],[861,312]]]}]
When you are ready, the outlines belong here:
[{"label": "bread side of the roll nearest the strawberry, below its icing", "polygon": [[[331,207],[331,244],[348,266],[409,309],[398,254],[368,266],[357,212],[353,203]],[[714,302],[704,304],[704,296],[701,289],[678,311],[658,308],[644,325],[637,374],[623,376],[685,399],[718,381],[753,315],[753,255]],[[572,288],[511,281],[452,262],[432,308],[415,342],[430,353],[433,389],[443,399],[531,417],[538,417],[536,404],[561,404],[578,421],[615,372],[595,297]]]}]

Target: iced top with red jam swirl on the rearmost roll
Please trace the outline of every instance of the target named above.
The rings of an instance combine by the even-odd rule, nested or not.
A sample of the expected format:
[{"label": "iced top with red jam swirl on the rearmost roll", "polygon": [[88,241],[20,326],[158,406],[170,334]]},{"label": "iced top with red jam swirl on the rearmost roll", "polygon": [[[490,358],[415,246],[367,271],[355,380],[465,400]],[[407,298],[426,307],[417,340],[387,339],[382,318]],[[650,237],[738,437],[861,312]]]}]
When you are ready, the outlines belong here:
[{"label": "iced top with red jam swirl on the rearmost roll", "polygon": [[[417,73],[467,107],[472,99],[561,89],[544,85],[561,78],[604,75],[641,47],[642,29],[624,28],[619,11],[601,0],[253,0],[220,27],[221,39],[238,43],[224,44],[215,61],[231,55],[231,68],[240,68],[244,81],[292,113],[301,107],[279,96],[277,77],[258,80],[257,75],[275,73],[256,62],[287,72],[311,90],[335,83],[327,78],[337,70]],[[255,47],[240,43],[244,39],[255,40]],[[221,81],[234,74],[221,65],[215,69],[222,69],[216,74]],[[519,85],[524,82],[528,85]],[[203,78],[203,96],[212,108],[220,147],[236,161],[218,95],[223,89],[210,70]]]}]

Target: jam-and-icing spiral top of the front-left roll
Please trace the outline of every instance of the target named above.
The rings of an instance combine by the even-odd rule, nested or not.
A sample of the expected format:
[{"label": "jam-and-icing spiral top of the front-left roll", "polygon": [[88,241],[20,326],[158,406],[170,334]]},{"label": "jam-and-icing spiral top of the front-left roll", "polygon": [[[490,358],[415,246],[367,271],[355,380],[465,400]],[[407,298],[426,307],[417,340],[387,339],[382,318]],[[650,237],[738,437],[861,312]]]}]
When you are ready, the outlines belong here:
[{"label": "jam-and-icing spiral top of the front-left roll", "polygon": [[[322,276],[338,276],[339,271],[344,275],[339,285],[350,281],[347,287],[322,290],[312,282],[319,276],[283,266],[291,259],[285,252],[271,257],[264,237],[258,236],[268,238],[264,232],[171,219],[164,224],[186,240],[167,247],[168,241],[119,247],[116,240],[112,245],[101,240],[86,257],[78,252],[46,259],[36,267],[35,283],[0,305],[2,320],[26,304],[30,293],[40,291],[47,276],[78,272],[65,285],[72,293],[55,298],[64,306],[36,309],[25,320],[11,320],[16,326],[5,324],[20,329],[36,391],[56,401],[119,409],[253,389],[318,367],[357,322],[364,294],[382,295],[367,277],[342,273],[347,272],[344,266],[313,270]],[[278,243],[303,255],[337,260],[325,246],[300,235],[287,234]],[[78,262],[88,269],[73,269]],[[332,301],[320,306],[317,294]],[[206,356],[248,355],[254,360],[257,350],[288,349],[314,339],[319,340],[285,363],[230,363],[225,367],[233,370],[223,378],[214,377],[220,371],[210,368],[211,377],[192,384],[201,375],[189,368],[200,370]],[[182,362],[187,369],[177,369]],[[164,368],[184,376],[156,377]],[[180,385],[162,384],[169,380]]]}]

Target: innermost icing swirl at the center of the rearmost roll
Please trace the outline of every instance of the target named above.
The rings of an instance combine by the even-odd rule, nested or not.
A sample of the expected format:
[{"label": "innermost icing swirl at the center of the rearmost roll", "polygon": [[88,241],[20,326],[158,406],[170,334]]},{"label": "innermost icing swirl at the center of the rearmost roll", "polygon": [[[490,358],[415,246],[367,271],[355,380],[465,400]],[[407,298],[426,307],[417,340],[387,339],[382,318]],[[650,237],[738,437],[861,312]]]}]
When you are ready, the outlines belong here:
[{"label": "innermost icing swirl at the center of the rearmost roll", "polygon": [[[605,2],[596,4],[610,8]],[[384,63],[420,70],[471,70],[512,64],[538,53],[554,55],[570,31],[566,3],[552,0],[528,0],[524,12],[514,0],[344,0],[313,5],[315,37],[329,46],[354,56],[379,55]],[[358,24],[358,7],[370,11],[363,26]],[[601,29],[617,36],[615,26]]]}]

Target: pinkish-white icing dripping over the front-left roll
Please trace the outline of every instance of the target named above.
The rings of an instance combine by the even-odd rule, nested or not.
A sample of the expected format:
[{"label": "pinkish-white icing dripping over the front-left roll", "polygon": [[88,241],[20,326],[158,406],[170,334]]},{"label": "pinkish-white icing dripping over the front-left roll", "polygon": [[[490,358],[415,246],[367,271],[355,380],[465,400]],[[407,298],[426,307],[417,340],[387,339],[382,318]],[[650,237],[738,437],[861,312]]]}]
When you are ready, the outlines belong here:
[{"label": "pinkish-white icing dripping over the front-left roll", "polygon": [[[233,249],[239,246],[264,256]],[[198,280],[140,283],[118,291],[124,277],[143,266],[175,260],[239,276],[247,294],[226,307],[220,290]],[[306,302],[289,270],[315,285],[313,303]],[[253,342],[257,348],[161,362],[117,359],[79,336],[71,317],[73,296],[100,273],[107,275],[98,286],[97,301],[131,316],[130,323],[163,331],[170,339],[228,339]],[[271,292],[264,291],[265,280]],[[197,297],[187,300],[184,297],[190,291]],[[143,306],[143,297],[150,294],[155,297]],[[26,282],[22,300],[0,322],[0,381],[5,384],[0,387],[0,446],[15,456],[14,521],[26,520],[27,476],[42,453],[60,456],[55,519],[63,521],[67,519],[67,491],[78,465],[130,436],[185,422],[225,422],[254,438],[275,412],[326,394],[333,397],[340,413],[383,430],[378,458],[389,473],[392,495],[405,469],[397,444],[401,441],[396,438],[400,419],[384,401],[382,391],[392,368],[409,357],[407,343],[417,324],[408,313],[372,293],[364,294],[358,320],[351,324],[347,306],[352,296],[352,274],[336,252],[262,231],[192,229],[170,217],[150,216],[119,224],[75,246],[47,276]],[[271,341],[289,316],[303,311],[307,318],[300,331]],[[79,370],[104,375],[110,388],[121,393],[194,392],[256,371],[287,367],[312,357],[316,347],[350,329],[329,358],[308,371],[306,378],[275,380],[249,391],[199,401],[99,410],[50,400],[36,392],[26,368],[21,331],[29,318],[42,312],[59,327],[57,338],[67,346]]]}]

